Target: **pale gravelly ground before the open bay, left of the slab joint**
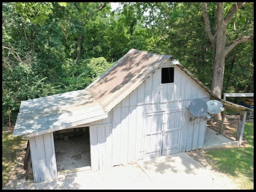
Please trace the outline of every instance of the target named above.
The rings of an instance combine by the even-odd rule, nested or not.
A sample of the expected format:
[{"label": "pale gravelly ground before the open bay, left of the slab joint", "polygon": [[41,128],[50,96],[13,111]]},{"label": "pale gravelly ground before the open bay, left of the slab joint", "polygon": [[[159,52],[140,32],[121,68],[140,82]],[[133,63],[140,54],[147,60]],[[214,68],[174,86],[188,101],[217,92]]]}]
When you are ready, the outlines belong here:
[{"label": "pale gravelly ground before the open bay, left of the slab joint", "polygon": [[106,170],[78,172],[53,180],[10,180],[5,190],[78,190],[78,189],[158,189],[138,164],[114,166]]}]

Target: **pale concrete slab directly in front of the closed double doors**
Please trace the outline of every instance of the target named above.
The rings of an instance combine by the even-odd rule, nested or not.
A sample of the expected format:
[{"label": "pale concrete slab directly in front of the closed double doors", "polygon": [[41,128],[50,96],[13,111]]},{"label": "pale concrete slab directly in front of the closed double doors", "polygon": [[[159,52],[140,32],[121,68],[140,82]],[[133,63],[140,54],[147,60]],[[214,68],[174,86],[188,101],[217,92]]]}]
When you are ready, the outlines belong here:
[{"label": "pale concrete slab directly in front of the closed double doors", "polygon": [[159,189],[212,189],[213,186],[210,171],[184,152],[137,163]]}]

